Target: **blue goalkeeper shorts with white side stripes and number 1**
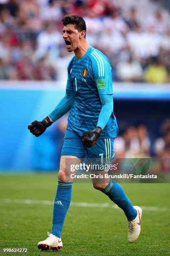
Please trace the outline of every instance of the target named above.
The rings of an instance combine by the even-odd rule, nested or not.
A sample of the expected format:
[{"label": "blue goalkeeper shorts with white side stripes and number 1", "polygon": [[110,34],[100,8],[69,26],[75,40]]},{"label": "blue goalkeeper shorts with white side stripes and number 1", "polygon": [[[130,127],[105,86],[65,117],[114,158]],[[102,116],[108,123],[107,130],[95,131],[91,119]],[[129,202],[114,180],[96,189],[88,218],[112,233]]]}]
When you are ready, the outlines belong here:
[{"label": "blue goalkeeper shorts with white side stripes and number 1", "polygon": [[109,164],[115,159],[113,142],[115,138],[98,138],[92,148],[86,148],[75,131],[66,130],[62,146],[62,156],[76,156],[79,159],[101,159],[102,164]]}]

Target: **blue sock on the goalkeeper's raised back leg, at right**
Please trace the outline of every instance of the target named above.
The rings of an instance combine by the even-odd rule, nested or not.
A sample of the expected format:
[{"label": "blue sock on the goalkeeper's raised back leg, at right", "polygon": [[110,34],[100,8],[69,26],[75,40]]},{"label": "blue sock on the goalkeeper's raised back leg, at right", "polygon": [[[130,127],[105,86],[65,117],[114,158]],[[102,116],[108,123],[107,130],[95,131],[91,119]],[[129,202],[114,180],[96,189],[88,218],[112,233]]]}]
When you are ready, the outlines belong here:
[{"label": "blue sock on the goalkeeper's raised back leg, at right", "polygon": [[118,207],[124,210],[125,215],[128,220],[134,220],[137,216],[137,211],[131,204],[128,197],[125,195],[122,187],[110,179],[109,184],[105,189],[101,190],[104,194],[106,194],[110,200],[112,200]]}]

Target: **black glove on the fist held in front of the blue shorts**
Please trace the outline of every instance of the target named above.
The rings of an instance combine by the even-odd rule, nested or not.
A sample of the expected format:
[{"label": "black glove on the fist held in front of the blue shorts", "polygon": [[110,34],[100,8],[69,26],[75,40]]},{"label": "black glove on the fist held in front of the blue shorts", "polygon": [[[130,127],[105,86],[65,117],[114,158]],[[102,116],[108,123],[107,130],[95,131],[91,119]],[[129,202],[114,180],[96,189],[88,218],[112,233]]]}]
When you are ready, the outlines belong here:
[{"label": "black glove on the fist held in front of the blue shorts", "polygon": [[82,143],[86,148],[91,148],[95,145],[97,139],[100,137],[102,133],[102,129],[100,127],[96,127],[92,132],[86,131],[80,135],[82,139]]}]

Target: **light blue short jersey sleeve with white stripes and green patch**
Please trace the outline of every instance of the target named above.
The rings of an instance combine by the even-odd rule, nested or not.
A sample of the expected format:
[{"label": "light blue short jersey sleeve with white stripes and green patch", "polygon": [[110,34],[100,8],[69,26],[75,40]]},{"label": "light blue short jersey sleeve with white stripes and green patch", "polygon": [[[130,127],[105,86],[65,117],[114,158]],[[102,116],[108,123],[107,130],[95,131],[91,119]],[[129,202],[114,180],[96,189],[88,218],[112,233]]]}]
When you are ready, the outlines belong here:
[{"label": "light blue short jersey sleeve with white stripes and green patch", "polygon": [[112,68],[109,60],[100,52],[92,51],[92,69],[99,95],[112,94]]}]

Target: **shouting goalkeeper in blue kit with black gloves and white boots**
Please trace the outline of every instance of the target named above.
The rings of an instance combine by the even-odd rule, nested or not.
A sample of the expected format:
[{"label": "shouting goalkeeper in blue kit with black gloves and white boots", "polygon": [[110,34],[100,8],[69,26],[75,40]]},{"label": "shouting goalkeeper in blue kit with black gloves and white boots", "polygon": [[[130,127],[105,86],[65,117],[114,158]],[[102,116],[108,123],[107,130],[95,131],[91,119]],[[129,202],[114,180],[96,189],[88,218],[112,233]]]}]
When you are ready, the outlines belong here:
[{"label": "shouting goalkeeper in blue kit with black gloves and white boots", "polygon": [[[66,93],[56,108],[42,121],[28,125],[36,137],[45,132],[69,110],[68,125],[62,146],[57,193],[54,201],[51,233],[37,246],[42,251],[62,248],[61,231],[70,206],[72,179],[67,172],[66,159],[80,164],[82,159],[102,156],[108,164],[114,159],[113,142],[118,127],[113,114],[112,76],[110,62],[102,52],[86,41],[83,18],[68,15],[62,18],[63,39],[67,51],[74,56],[67,67]],[[107,195],[120,207],[128,219],[128,241],[133,243],[140,235],[142,209],[131,204],[122,187],[112,179],[94,182],[93,187]]]}]

